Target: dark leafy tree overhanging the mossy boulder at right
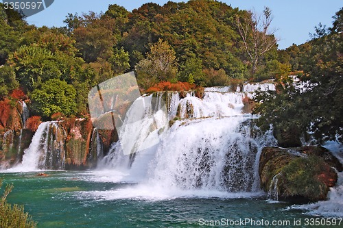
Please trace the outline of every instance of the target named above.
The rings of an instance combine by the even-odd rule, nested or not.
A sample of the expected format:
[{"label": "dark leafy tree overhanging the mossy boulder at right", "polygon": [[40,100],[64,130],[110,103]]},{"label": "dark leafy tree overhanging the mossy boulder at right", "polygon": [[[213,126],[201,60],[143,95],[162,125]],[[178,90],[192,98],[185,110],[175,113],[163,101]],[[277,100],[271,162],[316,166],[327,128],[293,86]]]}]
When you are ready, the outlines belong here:
[{"label": "dark leafy tree overhanging the mossy boulder at right", "polygon": [[281,60],[301,71],[300,82],[281,77],[276,93],[259,94],[263,101],[255,112],[262,114],[263,127],[287,136],[310,134],[317,142],[343,142],[343,9],[333,18],[333,27],[304,45],[293,45],[281,51]]}]

